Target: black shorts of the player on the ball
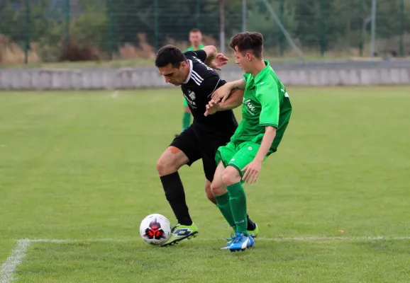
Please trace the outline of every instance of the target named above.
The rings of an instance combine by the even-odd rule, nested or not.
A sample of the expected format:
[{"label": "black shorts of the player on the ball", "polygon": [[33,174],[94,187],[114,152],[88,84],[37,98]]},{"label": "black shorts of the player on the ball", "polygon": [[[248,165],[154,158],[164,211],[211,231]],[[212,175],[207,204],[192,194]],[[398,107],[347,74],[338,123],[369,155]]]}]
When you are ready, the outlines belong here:
[{"label": "black shorts of the player on the ball", "polygon": [[202,159],[205,177],[212,182],[217,166],[216,151],[219,146],[225,146],[230,140],[231,134],[206,134],[195,125],[191,125],[179,134],[170,146],[175,146],[184,152],[189,159],[188,166]]}]

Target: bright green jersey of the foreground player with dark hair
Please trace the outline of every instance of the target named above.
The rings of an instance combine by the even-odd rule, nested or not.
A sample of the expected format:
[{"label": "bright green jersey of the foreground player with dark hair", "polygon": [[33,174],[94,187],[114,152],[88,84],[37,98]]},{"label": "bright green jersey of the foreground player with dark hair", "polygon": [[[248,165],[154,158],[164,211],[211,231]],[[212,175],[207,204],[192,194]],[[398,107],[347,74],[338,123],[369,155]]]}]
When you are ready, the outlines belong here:
[{"label": "bright green jersey of the foreground player with dark hair", "polygon": [[292,113],[292,105],[283,83],[265,61],[266,67],[255,78],[245,74],[246,88],[243,94],[242,122],[231,137],[234,143],[253,141],[262,143],[265,127],[277,128],[268,154],[277,150]]}]

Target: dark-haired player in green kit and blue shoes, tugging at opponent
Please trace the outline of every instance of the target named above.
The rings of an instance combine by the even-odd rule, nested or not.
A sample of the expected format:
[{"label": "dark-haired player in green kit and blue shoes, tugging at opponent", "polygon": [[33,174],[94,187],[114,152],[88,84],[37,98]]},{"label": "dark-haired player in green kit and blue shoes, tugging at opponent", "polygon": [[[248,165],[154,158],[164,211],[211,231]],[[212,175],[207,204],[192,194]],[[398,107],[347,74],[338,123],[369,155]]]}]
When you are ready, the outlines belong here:
[{"label": "dark-haired player in green kit and blue shoes, tugging at opponent", "polygon": [[242,184],[255,183],[262,162],[277,151],[289,123],[292,105],[283,83],[262,57],[262,34],[239,33],[232,37],[230,46],[235,52],[236,64],[245,71],[245,79],[218,88],[206,106],[205,115],[223,110],[218,103],[226,100],[232,89],[245,90],[243,120],[231,141],[218,148],[218,167],[211,184],[218,208],[236,232],[223,249],[236,251],[255,243],[247,232],[246,195]]}]

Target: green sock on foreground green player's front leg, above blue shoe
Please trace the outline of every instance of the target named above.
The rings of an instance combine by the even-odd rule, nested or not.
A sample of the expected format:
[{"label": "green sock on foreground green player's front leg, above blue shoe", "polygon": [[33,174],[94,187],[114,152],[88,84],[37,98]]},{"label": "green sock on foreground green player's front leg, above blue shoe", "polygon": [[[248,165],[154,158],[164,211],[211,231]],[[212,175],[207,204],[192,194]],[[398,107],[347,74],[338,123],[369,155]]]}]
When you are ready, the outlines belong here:
[{"label": "green sock on foreground green player's front leg, above blue shoe", "polygon": [[229,202],[233,220],[236,225],[236,231],[242,232],[248,236],[248,221],[246,219],[246,195],[242,185],[239,183],[228,185],[226,187],[229,194]]}]

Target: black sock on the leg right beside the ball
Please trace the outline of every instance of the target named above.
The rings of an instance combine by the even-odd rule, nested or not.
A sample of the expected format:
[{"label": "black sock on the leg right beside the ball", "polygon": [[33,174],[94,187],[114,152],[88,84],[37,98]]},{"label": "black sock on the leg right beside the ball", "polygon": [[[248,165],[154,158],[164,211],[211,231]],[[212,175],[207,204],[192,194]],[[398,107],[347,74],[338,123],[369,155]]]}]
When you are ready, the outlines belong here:
[{"label": "black sock on the leg right beside the ball", "polygon": [[184,186],[178,172],[160,177],[162,187],[164,187],[165,197],[170,202],[171,208],[181,225],[192,225],[189,216],[187,202],[185,202]]}]

